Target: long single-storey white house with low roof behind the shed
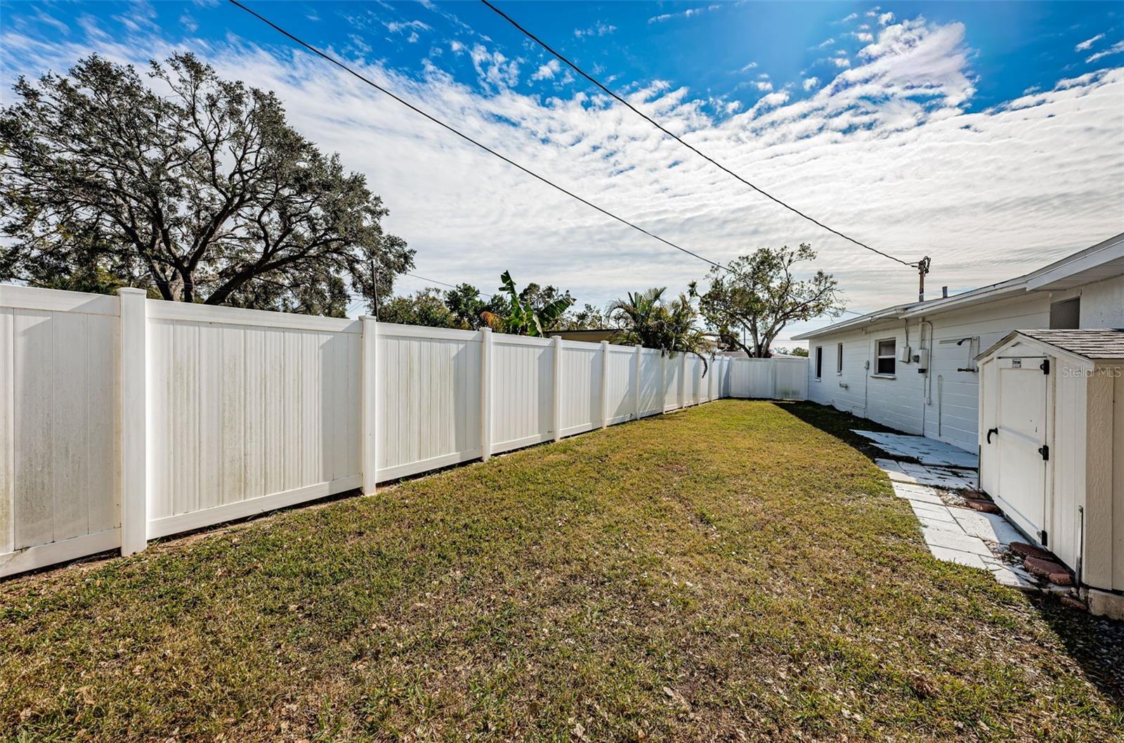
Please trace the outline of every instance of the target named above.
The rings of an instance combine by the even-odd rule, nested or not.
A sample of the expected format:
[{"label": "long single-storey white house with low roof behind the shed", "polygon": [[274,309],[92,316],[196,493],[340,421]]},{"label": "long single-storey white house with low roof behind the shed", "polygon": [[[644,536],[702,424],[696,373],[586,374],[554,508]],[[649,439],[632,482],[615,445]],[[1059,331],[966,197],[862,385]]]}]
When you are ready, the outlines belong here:
[{"label": "long single-storey white house with low roof behind the shed", "polygon": [[977,451],[976,356],[1012,330],[1124,327],[1124,234],[1026,275],[795,336],[808,399]]}]

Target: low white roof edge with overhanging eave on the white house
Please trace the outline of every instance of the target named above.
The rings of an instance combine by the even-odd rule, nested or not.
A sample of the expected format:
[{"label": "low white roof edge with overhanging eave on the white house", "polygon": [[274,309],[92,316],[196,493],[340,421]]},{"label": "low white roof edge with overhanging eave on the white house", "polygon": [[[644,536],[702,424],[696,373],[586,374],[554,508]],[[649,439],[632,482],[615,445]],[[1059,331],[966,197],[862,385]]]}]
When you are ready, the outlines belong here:
[{"label": "low white roof edge with overhanging eave on the white house", "polygon": [[1124,273],[1124,233],[1114,235],[1091,247],[1078,251],[1072,255],[1054,261],[1027,274],[1000,281],[999,283],[972,289],[953,297],[928,299],[923,302],[896,305],[860,317],[853,317],[842,323],[794,335],[794,341],[807,341],[822,335],[831,335],[841,330],[864,327],[871,323],[886,319],[908,319],[921,315],[963,309],[975,305],[1006,299],[1028,291],[1058,291],[1085,283],[1111,279]]}]

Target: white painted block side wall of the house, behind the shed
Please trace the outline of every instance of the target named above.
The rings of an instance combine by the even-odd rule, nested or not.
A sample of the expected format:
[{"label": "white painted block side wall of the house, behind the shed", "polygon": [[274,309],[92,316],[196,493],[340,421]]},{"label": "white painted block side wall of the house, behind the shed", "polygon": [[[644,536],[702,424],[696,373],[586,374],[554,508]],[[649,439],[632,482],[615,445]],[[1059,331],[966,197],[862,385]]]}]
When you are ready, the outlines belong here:
[{"label": "white painted block side wall of the house, behind the shed", "polygon": [[[1054,295],[1053,301],[1059,297],[1064,295]],[[969,371],[975,369],[971,360],[1013,329],[1049,327],[1050,302],[1049,293],[1033,293],[932,318],[886,320],[810,338],[808,399],[905,433],[976,451],[979,373]],[[930,348],[928,373],[921,373],[912,361],[898,361],[894,378],[874,374],[876,343],[892,337],[900,353],[907,335],[913,354],[917,354],[924,337]],[[839,343],[843,344],[842,373],[835,371]],[[824,364],[823,375],[816,380],[814,360],[819,345],[824,347]]]}]

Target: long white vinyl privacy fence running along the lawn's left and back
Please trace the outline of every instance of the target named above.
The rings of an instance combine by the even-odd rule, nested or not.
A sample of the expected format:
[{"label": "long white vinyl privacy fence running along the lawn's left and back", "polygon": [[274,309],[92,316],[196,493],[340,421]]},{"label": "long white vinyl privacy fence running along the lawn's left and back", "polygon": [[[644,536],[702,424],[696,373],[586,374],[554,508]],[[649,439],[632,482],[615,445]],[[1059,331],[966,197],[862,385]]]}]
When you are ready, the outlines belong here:
[{"label": "long white vinyl privacy fence running along the lawn's left and back", "polygon": [[[770,362],[780,363],[770,363]],[[0,286],[0,576],[719,397],[791,360]]]}]

